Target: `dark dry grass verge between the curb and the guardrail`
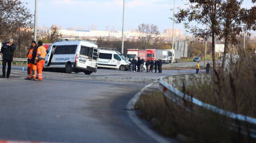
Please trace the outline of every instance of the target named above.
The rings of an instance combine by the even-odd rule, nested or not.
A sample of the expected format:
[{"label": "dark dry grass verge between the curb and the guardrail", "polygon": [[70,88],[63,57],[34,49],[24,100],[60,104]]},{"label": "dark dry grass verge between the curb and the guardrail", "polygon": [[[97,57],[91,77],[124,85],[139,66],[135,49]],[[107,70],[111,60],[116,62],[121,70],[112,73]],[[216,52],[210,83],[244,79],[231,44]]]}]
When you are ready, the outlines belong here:
[{"label": "dark dry grass verge between the curb and the guardrail", "polygon": [[225,116],[209,110],[191,112],[154,92],[139,98],[139,116],[150,121],[162,135],[187,136],[184,142],[255,142],[253,138],[230,130],[230,122]]}]

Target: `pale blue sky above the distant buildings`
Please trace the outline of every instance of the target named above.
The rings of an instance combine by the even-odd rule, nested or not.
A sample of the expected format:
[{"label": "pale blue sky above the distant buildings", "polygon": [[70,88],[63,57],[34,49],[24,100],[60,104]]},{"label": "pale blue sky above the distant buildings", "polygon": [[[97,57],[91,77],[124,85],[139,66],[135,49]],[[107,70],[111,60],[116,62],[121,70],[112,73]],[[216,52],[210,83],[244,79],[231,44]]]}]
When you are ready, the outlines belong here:
[{"label": "pale blue sky above the distant buildings", "polygon": [[[27,3],[34,14],[35,0],[21,0]],[[136,29],[141,23],[158,25],[160,32],[172,27],[171,9],[174,0],[126,0],[125,31]],[[176,0],[175,7],[186,7],[187,0]],[[243,7],[251,7],[251,0],[245,0]],[[51,27],[52,24],[66,29],[97,25],[98,30],[106,27],[122,30],[123,0],[38,0],[38,25]],[[184,31],[183,24],[175,29]]]}]

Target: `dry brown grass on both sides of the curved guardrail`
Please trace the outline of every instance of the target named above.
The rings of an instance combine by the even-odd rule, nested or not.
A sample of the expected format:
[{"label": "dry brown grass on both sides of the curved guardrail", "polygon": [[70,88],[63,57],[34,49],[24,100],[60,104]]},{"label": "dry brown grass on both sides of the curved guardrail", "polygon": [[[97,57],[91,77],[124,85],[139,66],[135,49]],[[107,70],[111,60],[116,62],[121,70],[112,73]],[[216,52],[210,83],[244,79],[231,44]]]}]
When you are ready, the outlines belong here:
[{"label": "dry brown grass on both sides of the curved guardrail", "polygon": [[[243,53],[238,60],[230,63],[230,68],[224,73],[216,72],[209,85],[180,89],[221,109],[255,117],[255,87],[255,55]],[[189,137],[187,142],[256,142],[250,136],[230,130],[234,120],[201,108],[193,110],[195,108],[189,105],[188,110],[177,106],[160,92],[142,96],[138,103],[140,116],[147,120],[158,119],[155,129],[165,136],[175,137],[181,133]],[[238,121],[235,123],[241,124]]]}]

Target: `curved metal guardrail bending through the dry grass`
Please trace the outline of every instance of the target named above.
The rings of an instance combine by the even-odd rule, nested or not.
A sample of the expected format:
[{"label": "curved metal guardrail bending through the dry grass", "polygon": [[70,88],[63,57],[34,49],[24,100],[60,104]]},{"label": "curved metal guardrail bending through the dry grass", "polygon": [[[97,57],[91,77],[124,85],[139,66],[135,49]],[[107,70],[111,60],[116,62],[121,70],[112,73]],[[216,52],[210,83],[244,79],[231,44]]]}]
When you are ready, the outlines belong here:
[{"label": "curved metal guardrail bending through the dry grass", "polygon": [[232,129],[238,131],[241,129],[241,132],[245,135],[248,135],[247,128],[249,127],[250,136],[256,138],[256,119],[250,116],[245,116],[241,114],[236,114],[234,112],[225,111],[223,109],[219,109],[216,106],[209,105],[208,103],[204,103],[199,99],[193,98],[184,94],[177,87],[181,87],[183,85],[189,86],[194,84],[201,84],[205,82],[210,82],[212,80],[212,75],[176,75],[176,76],[168,76],[162,77],[159,80],[160,92],[164,94],[165,97],[170,99],[172,102],[176,103],[179,106],[187,108],[187,103],[190,102],[193,104],[195,109],[204,108],[207,110],[211,110],[216,112],[217,114],[228,116],[234,121],[238,120],[242,127],[239,127],[237,124],[232,124]]}]

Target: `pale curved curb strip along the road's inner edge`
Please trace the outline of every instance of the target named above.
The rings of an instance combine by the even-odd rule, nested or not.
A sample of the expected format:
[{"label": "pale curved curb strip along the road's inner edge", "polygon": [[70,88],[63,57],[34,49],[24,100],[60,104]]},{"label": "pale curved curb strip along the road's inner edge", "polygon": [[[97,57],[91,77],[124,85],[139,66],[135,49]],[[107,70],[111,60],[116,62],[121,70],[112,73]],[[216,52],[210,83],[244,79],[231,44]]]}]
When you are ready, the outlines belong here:
[{"label": "pale curved curb strip along the road's inner edge", "polygon": [[[155,81],[156,82],[156,81]],[[135,114],[134,112],[134,106],[136,105],[136,103],[139,100],[139,97],[141,96],[141,94],[143,93],[144,90],[146,90],[149,86],[153,85],[149,84],[147,86],[144,86],[144,88],[139,91],[137,94],[135,94],[135,96],[133,98],[130,99],[130,101],[128,102],[126,109],[127,109],[127,114],[129,115],[130,119],[143,131],[145,132],[148,136],[154,138],[155,141],[157,142],[163,142],[163,143],[172,143],[172,142],[176,142],[175,140],[167,140],[167,138],[164,138],[162,136],[160,136],[157,132],[153,131],[152,129],[148,128],[148,126],[146,124],[144,124],[142,122],[141,119],[138,118],[138,116]]]}]

